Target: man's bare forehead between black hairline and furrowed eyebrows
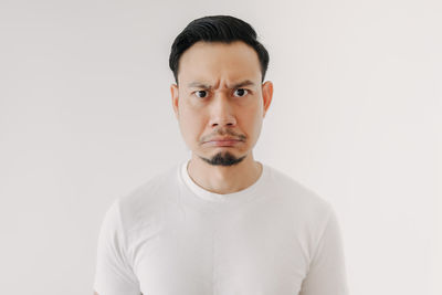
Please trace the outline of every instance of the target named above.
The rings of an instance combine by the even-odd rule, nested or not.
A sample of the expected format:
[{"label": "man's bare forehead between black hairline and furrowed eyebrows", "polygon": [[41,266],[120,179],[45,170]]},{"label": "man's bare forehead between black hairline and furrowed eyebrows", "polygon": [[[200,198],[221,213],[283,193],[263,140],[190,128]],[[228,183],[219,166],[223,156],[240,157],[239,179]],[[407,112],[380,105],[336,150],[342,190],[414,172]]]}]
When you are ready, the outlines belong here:
[{"label": "man's bare forehead between black hairline and furrowed eyebrows", "polygon": [[234,83],[261,80],[257,53],[244,42],[197,42],[181,55],[178,72],[179,84],[204,82]]}]

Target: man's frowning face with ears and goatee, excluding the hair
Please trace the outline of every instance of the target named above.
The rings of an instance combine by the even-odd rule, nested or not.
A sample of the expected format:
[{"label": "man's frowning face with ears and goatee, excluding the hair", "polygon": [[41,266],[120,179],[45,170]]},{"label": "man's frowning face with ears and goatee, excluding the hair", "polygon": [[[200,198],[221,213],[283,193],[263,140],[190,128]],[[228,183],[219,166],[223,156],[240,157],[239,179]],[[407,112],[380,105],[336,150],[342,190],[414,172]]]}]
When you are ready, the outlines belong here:
[{"label": "man's frowning face with ears and goatee, excluding the hair", "polygon": [[[181,55],[173,112],[192,152],[210,165],[231,166],[257,141],[273,94],[261,83],[256,52],[244,42],[197,42]],[[220,141],[231,139],[230,141]]]}]

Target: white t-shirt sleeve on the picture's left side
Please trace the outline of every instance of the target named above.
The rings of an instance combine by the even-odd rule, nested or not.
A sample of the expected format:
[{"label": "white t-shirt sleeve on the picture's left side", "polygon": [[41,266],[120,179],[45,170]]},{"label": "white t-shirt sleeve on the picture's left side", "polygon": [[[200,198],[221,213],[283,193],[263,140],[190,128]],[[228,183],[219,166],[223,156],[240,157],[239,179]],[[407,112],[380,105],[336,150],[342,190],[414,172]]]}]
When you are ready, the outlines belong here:
[{"label": "white t-shirt sleeve on the picture's left side", "polygon": [[94,291],[98,295],[139,295],[128,261],[118,199],[107,210],[98,234]]}]

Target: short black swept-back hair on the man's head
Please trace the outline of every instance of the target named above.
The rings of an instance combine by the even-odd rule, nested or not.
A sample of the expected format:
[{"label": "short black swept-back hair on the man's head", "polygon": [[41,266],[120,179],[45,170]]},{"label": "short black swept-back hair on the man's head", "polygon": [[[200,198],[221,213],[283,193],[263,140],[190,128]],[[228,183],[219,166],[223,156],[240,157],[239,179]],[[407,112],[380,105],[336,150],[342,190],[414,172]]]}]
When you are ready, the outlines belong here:
[{"label": "short black swept-back hair on the man's head", "polygon": [[169,56],[169,67],[178,84],[178,65],[182,53],[199,41],[232,43],[242,41],[252,46],[261,64],[261,82],[269,65],[269,52],[256,39],[252,25],[231,15],[210,15],[191,21],[175,39]]}]

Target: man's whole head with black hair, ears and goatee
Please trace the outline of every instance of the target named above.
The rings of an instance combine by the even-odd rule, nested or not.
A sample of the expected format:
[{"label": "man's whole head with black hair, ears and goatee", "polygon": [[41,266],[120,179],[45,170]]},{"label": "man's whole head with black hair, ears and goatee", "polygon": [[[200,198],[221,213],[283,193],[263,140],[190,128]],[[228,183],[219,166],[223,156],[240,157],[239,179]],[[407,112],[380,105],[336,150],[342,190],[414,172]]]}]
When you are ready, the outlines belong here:
[{"label": "man's whole head with black hair, ears and goatee", "polygon": [[[273,95],[269,53],[253,28],[229,15],[190,22],[169,57],[175,115],[193,156],[232,166],[252,156]],[[213,141],[214,139],[233,141]]]}]

